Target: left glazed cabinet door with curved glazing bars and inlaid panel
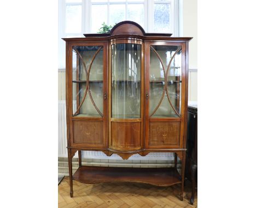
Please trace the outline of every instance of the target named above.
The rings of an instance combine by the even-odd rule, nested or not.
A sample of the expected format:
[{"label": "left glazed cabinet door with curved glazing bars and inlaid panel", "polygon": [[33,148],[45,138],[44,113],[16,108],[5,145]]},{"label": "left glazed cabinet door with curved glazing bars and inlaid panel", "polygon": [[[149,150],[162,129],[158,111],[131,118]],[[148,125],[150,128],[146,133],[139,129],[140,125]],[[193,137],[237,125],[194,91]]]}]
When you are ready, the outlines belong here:
[{"label": "left glazed cabinet door with curved glazing bars and inlaid panel", "polygon": [[[71,145],[106,148],[107,47],[90,42],[69,46],[68,94]],[[72,103],[72,105],[70,105]]]}]

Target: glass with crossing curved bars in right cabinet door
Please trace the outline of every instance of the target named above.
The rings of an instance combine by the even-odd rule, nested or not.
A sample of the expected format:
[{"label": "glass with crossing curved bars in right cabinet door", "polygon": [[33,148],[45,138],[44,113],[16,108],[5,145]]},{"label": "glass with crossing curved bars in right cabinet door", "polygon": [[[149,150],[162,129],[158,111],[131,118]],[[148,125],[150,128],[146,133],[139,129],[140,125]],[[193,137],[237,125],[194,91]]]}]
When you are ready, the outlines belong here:
[{"label": "glass with crossing curved bars in right cabinet door", "polygon": [[181,54],[181,46],[150,46],[150,117],[169,118],[181,114]]}]

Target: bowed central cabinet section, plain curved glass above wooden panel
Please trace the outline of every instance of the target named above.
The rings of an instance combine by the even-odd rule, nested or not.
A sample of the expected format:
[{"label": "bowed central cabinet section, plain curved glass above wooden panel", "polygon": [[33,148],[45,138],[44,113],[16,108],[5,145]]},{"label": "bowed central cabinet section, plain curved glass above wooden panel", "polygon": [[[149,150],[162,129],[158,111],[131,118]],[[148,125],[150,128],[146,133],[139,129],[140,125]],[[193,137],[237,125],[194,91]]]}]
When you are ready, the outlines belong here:
[{"label": "bowed central cabinet section, plain curved glass above wooden panel", "polygon": [[142,41],[112,41],[109,45],[109,148],[136,151],[143,148]]}]

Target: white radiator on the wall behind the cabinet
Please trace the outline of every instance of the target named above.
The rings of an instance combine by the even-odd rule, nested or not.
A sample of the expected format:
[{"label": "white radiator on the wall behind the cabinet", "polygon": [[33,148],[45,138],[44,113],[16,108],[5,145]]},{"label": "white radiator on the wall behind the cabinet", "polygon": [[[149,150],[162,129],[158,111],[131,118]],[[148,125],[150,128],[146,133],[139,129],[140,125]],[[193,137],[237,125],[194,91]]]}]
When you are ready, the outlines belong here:
[{"label": "white radiator on the wall behind the cabinet", "polygon": [[[58,156],[59,157],[67,157],[67,124],[66,124],[66,101],[59,100],[58,103],[58,119],[59,119],[59,145],[58,145]],[[76,107],[76,102],[73,102],[73,109]],[[76,153],[74,157],[77,157],[78,154]],[[112,156],[108,157],[103,152],[100,151],[83,151],[82,152],[83,158],[95,158],[95,159],[109,159],[109,160],[119,160],[121,159],[120,156],[113,154]],[[160,153],[160,152],[152,152],[149,153],[147,156],[140,156],[138,154],[132,155],[129,160],[174,160],[172,153]]]}]

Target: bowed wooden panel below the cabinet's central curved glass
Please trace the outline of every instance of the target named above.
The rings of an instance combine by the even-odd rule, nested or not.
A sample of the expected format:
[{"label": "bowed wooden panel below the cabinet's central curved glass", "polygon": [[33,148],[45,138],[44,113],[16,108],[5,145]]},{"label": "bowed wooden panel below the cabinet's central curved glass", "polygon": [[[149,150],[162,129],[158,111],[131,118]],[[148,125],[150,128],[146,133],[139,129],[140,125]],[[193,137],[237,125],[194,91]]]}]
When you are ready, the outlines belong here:
[{"label": "bowed wooden panel below the cabinet's central curved glass", "polygon": [[141,149],[141,122],[112,122],[111,148],[115,150]]}]

